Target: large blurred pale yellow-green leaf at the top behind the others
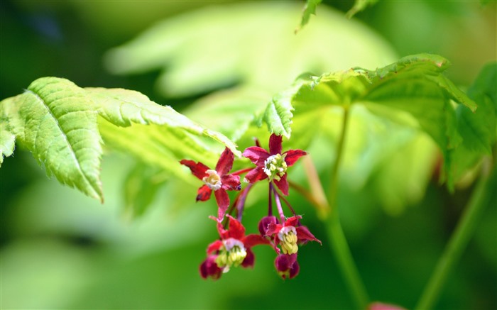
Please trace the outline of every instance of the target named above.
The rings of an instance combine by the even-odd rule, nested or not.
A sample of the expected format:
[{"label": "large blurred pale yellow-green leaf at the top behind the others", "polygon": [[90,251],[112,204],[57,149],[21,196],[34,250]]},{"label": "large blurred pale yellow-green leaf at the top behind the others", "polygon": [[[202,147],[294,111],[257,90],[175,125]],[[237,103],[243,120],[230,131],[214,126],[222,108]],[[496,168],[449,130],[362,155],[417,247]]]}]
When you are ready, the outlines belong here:
[{"label": "large blurred pale yellow-green leaf at the top behind the others", "polygon": [[109,50],[105,64],[114,74],[160,70],[158,92],[174,97],[233,84],[274,94],[302,72],[383,66],[397,58],[376,33],[326,6],[320,7],[321,18],[295,35],[301,13],[297,1],[205,7],[168,18]]}]

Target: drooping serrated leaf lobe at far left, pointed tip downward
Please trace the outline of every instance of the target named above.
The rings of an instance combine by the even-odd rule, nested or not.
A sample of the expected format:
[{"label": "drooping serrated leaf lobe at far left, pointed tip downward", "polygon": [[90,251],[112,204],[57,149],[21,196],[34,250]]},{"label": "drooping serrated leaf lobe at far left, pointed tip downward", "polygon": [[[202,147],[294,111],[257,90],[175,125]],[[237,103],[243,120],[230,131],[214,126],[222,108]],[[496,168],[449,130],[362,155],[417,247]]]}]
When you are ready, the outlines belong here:
[{"label": "drooping serrated leaf lobe at far left, pointed tip downward", "polygon": [[84,89],[67,79],[43,77],[0,104],[18,142],[48,175],[103,201],[97,113]]}]

